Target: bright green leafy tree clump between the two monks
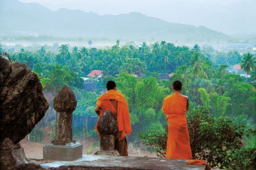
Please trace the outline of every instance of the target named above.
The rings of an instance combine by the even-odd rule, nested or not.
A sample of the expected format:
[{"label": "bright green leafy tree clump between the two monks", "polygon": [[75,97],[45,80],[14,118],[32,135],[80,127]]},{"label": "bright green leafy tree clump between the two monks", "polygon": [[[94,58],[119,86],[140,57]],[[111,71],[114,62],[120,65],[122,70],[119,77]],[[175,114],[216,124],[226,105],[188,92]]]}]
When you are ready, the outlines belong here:
[{"label": "bright green leafy tree clump between the two monks", "polygon": [[132,125],[140,127],[134,128],[132,135],[141,130],[150,129],[155,126],[155,123],[162,122],[164,116],[158,113],[169,89],[159,86],[156,78],[139,79],[121,73],[117,78],[117,87],[125,95],[129,105]]}]

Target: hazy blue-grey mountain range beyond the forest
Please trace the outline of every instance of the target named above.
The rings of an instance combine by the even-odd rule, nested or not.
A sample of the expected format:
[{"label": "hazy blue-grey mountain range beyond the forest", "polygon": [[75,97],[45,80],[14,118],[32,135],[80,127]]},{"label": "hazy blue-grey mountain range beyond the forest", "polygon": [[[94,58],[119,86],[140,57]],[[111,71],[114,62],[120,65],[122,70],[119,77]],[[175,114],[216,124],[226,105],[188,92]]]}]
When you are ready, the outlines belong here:
[{"label": "hazy blue-grey mountain range beyond the forest", "polygon": [[50,9],[36,3],[0,0],[0,36],[53,36],[162,40],[222,40],[230,37],[206,27],[170,23],[132,12],[98,15]]}]

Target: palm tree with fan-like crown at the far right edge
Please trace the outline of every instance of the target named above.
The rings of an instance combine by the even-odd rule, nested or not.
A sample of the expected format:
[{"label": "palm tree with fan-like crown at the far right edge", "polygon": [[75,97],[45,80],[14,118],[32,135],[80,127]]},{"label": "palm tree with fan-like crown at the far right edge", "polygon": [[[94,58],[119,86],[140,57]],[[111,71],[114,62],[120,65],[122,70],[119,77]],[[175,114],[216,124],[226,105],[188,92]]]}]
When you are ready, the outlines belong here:
[{"label": "palm tree with fan-like crown at the far right edge", "polygon": [[241,68],[247,74],[246,79],[248,78],[248,75],[250,74],[251,69],[255,70],[255,67],[256,67],[256,58],[250,53],[245,54],[241,61]]}]

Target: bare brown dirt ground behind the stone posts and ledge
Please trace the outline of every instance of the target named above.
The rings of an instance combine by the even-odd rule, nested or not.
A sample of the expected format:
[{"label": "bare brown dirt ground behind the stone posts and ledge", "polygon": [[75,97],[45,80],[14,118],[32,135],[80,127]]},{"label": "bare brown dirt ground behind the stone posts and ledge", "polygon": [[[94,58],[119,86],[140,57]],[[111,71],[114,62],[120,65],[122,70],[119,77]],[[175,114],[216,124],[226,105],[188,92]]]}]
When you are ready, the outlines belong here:
[{"label": "bare brown dirt ground behind the stone posts and ledge", "polygon": [[[37,142],[27,142],[25,140],[20,141],[20,145],[24,148],[27,158],[30,159],[42,159],[42,147],[45,144]],[[99,147],[93,147],[92,141],[83,142],[83,154],[94,155]],[[143,149],[133,147],[133,144],[129,144],[128,148],[129,156],[139,156],[139,157],[157,157],[156,153],[151,153],[150,151],[145,151]]]}]

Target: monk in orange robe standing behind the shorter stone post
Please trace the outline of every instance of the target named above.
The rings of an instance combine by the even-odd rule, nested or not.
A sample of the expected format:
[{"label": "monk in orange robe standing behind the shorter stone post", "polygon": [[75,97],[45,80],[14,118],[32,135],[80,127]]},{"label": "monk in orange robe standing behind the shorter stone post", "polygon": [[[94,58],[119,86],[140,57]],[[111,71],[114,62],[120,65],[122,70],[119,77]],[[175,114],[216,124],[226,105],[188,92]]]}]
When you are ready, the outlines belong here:
[{"label": "monk in orange robe standing behind the shorter stone post", "polygon": [[[108,91],[102,94],[96,103],[95,112],[99,116],[102,116],[105,110],[117,114],[118,132],[115,134],[115,149],[121,156],[128,156],[125,134],[130,135],[132,132],[129,108],[124,95],[117,91],[114,81],[106,83],[106,89]],[[97,130],[97,124],[95,129]]]}]

